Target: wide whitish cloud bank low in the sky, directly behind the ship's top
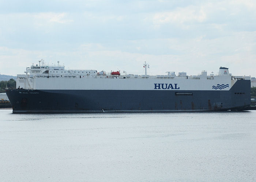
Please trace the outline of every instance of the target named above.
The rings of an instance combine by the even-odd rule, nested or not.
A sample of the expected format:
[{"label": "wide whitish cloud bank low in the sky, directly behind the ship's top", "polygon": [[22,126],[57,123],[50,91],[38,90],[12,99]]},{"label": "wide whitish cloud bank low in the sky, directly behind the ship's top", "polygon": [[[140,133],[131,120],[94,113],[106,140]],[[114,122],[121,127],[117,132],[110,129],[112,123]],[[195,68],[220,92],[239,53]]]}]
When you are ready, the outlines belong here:
[{"label": "wide whitish cloud bank low in the sky, directly behind the ship's top", "polygon": [[[256,60],[256,32],[234,32],[229,36],[207,39],[143,39],[122,40],[119,44],[80,44],[72,49],[33,51],[0,47],[0,70],[21,74],[31,63],[44,59],[46,63],[65,63],[70,69],[125,70],[143,74],[143,63],[150,64],[149,74],[166,71],[197,75],[201,70],[218,72],[220,66],[230,68],[233,75],[253,75]],[[10,69],[10,63],[14,65]]]}]

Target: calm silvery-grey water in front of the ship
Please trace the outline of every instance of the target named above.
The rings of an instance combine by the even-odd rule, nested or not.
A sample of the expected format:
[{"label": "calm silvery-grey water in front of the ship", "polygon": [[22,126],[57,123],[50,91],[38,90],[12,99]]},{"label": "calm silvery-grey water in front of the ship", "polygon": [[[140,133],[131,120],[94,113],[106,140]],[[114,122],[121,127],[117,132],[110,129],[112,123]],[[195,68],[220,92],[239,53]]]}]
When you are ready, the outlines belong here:
[{"label": "calm silvery-grey water in front of the ship", "polygon": [[256,111],[11,113],[0,181],[256,181]]}]

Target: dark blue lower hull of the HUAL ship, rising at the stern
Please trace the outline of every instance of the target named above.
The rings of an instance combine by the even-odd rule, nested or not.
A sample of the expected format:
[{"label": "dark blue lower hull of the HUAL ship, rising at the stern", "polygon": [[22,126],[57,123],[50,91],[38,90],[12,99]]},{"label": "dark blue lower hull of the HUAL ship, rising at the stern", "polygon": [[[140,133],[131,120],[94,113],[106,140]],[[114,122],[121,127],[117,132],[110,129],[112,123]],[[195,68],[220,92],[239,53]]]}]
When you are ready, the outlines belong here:
[{"label": "dark blue lower hull of the HUAL ship, rising at the stern", "polygon": [[250,80],[221,90],[6,90],[13,113],[246,110]]}]

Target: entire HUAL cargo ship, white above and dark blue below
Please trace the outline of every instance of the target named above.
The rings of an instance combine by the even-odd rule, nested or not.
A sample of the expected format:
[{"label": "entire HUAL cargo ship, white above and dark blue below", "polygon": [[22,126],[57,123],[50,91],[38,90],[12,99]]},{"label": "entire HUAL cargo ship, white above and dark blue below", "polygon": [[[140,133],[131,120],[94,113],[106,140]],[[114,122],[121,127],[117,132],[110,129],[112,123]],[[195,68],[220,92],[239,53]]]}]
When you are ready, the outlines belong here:
[{"label": "entire HUAL cargo ship, white above and dark blue below", "polygon": [[142,75],[120,71],[65,70],[44,62],[18,74],[16,89],[6,90],[13,113],[177,112],[246,110],[251,103],[250,76],[218,74]]}]

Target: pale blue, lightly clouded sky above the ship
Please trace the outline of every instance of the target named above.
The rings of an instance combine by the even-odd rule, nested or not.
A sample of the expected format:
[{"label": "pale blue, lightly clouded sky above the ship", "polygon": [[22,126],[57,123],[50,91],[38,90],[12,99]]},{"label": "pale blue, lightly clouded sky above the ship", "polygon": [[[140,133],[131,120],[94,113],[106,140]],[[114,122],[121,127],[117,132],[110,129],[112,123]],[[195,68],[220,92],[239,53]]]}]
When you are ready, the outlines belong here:
[{"label": "pale blue, lightly clouded sky above the ship", "polygon": [[0,0],[0,74],[72,70],[256,76],[255,0]]}]

